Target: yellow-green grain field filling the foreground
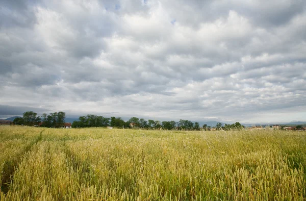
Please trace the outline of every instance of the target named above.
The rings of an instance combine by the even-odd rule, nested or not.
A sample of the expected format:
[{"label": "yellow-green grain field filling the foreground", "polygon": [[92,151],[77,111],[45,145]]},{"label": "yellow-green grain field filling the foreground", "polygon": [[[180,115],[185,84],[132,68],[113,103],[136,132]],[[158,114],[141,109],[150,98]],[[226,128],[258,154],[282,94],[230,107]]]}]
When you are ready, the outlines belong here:
[{"label": "yellow-green grain field filling the foreground", "polygon": [[306,132],[0,127],[1,200],[306,200]]}]

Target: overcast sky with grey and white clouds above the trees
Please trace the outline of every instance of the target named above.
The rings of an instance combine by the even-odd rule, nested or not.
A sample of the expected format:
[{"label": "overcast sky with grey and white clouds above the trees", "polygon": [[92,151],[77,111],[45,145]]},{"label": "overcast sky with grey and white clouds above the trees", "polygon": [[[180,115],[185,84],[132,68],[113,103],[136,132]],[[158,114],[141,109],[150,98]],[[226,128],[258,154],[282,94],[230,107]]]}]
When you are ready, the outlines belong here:
[{"label": "overcast sky with grey and white clouds above the trees", "polygon": [[2,0],[0,117],[306,120],[304,0]]}]

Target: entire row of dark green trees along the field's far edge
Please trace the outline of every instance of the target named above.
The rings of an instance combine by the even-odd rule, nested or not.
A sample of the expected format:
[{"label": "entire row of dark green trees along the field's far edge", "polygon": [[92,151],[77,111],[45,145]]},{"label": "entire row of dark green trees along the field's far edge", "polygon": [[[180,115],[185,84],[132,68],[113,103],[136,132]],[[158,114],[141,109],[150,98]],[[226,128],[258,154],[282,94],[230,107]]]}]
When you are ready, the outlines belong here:
[{"label": "entire row of dark green trees along the field's far edge", "polygon": [[[15,125],[35,125],[39,127],[47,128],[61,128],[65,124],[66,113],[54,112],[49,114],[42,114],[38,116],[33,111],[27,111],[23,113],[23,117],[17,117],[13,123]],[[241,130],[243,125],[239,122],[233,124],[225,124],[218,122],[215,127],[211,127],[204,124],[200,127],[198,122],[192,122],[190,120],[180,119],[179,121],[159,121],[143,118],[132,117],[127,121],[124,121],[121,117],[103,117],[94,114],[88,114],[86,116],[80,116],[78,121],[73,121],[72,128],[89,128],[89,127],[113,127],[118,129],[147,129],[147,130],[186,130],[186,131],[199,131],[201,129],[210,130]]]}]

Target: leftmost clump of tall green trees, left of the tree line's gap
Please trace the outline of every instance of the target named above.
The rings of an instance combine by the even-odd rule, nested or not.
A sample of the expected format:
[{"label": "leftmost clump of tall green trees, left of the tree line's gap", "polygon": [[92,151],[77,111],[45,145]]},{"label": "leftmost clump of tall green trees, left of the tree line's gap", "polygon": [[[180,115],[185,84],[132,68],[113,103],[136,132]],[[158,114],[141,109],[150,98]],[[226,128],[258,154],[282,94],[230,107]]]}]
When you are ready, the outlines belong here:
[{"label": "leftmost clump of tall green trees, left of the tree line's gap", "polygon": [[23,113],[23,117],[17,117],[13,120],[15,125],[34,125],[47,128],[61,128],[65,125],[65,112],[43,113],[42,116],[37,116],[33,111]]}]

